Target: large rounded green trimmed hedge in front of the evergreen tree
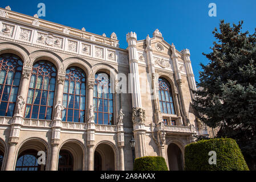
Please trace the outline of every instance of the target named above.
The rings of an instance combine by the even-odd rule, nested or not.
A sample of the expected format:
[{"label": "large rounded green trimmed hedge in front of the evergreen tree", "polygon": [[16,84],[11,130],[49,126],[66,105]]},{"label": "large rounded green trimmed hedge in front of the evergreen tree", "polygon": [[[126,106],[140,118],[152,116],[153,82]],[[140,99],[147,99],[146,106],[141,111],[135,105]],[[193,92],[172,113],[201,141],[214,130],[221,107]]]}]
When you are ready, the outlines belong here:
[{"label": "large rounded green trimmed hedge in front of the evergreen tree", "polygon": [[[208,160],[215,151],[216,164]],[[231,138],[200,140],[185,147],[185,171],[249,171],[237,142]]]}]

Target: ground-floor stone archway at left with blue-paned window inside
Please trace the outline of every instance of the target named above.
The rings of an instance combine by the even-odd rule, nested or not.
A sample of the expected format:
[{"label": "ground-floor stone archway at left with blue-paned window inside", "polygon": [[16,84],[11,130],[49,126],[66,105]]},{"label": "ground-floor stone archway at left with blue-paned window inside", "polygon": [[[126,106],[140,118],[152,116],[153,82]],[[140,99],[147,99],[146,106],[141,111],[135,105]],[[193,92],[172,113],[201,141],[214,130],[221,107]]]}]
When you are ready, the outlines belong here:
[{"label": "ground-floor stone archway at left with blue-paned window inside", "polygon": [[[45,164],[38,164],[39,151],[45,152]],[[42,162],[40,160],[40,162]],[[31,139],[22,144],[18,152],[15,171],[45,171],[47,165],[47,146],[40,139]]]}]

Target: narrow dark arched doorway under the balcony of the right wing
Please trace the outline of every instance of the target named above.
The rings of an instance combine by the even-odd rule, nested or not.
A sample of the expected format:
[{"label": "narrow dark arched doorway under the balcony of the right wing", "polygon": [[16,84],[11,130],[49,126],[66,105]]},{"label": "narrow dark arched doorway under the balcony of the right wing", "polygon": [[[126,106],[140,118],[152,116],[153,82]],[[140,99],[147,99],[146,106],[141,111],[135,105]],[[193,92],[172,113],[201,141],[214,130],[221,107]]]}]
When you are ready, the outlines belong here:
[{"label": "narrow dark arched doorway under the balcony of the right wing", "polygon": [[168,163],[170,171],[183,170],[183,156],[177,144],[170,143],[167,149]]}]

